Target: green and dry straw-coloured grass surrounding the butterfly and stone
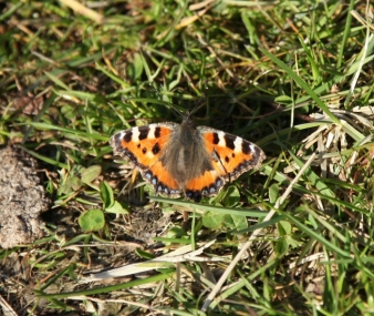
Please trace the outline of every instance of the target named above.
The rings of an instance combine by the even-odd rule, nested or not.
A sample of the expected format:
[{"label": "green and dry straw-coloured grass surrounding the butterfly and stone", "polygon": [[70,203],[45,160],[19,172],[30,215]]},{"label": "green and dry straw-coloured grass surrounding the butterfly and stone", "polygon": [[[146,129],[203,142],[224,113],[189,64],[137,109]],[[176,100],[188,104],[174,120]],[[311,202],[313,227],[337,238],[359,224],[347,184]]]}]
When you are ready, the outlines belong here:
[{"label": "green and dry straw-coloured grass surrounding the butterfly and stone", "polygon": [[[40,161],[52,198],[43,239],[0,249],[32,269],[1,279],[12,308],[372,315],[372,4],[82,3],[11,0],[0,14],[0,141]],[[268,159],[199,204],[155,197],[107,141],[191,110]],[[87,279],[131,264],[152,269]]]}]

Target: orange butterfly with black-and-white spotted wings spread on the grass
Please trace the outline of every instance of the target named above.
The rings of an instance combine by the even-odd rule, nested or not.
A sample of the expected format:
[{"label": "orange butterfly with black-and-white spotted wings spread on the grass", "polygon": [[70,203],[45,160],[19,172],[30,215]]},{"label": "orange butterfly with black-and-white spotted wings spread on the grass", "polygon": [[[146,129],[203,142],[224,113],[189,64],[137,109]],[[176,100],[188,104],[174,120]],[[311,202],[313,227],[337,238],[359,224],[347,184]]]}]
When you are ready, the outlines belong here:
[{"label": "orange butterfly with black-and-white spotted wings spread on the grass", "polygon": [[266,159],[256,144],[185,118],[132,128],[114,134],[110,144],[116,155],[137,167],[156,193],[195,202],[217,195],[225,183],[259,169]]}]

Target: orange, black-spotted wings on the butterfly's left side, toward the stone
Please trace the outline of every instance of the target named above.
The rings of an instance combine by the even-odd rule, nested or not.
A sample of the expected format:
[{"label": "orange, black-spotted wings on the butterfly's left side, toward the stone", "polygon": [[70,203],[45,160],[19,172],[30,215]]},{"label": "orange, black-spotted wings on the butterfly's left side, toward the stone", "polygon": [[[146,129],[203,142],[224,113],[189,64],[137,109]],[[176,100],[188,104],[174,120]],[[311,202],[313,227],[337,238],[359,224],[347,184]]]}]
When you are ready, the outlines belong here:
[{"label": "orange, black-spotted wings on the butterfly's left side, toward the stone", "polygon": [[163,165],[160,157],[178,124],[149,124],[114,134],[110,144],[115,154],[127,159],[156,192],[179,196],[180,188]]}]

